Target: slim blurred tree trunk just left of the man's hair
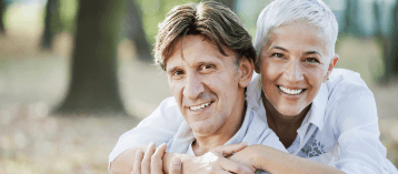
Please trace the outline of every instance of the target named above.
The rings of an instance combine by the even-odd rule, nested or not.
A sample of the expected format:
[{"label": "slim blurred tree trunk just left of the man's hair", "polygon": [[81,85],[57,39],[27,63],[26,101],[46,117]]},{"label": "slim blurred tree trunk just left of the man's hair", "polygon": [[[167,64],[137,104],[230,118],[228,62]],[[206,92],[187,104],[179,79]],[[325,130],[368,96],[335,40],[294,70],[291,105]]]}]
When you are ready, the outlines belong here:
[{"label": "slim blurred tree trunk just left of the man's hair", "polygon": [[146,32],[143,31],[142,27],[142,12],[140,8],[137,7],[135,0],[128,0],[126,13],[127,35],[136,44],[136,52],[138,54],[138,59],[147,62],[152,61],[152,48],[147,40]]}]

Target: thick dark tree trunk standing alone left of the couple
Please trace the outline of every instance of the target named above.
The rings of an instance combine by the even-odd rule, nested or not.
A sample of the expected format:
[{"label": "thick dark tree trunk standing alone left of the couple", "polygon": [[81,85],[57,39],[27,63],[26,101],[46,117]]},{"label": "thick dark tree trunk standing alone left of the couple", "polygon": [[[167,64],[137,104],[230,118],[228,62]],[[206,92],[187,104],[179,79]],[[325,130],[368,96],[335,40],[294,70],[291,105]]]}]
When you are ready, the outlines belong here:
[{"label": "thick dark tree trunk standing alone left of the couple", "polygon": [[126,114],[117,78],[119,22],[127,0],[80,0],[71,83],[58,113]]}]

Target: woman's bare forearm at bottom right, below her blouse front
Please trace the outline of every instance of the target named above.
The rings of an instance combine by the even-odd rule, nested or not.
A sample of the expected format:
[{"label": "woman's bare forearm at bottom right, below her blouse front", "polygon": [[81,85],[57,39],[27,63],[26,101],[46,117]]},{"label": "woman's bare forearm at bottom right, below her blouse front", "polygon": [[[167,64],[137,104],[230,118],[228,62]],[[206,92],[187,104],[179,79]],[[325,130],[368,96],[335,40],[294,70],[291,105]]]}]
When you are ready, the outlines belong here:
[{"label": "woman's bare forearm at bottom right, below her blouse front", "polygon": [[269,173],[344,173],[332,166],[318,163],[312,160],[302,158],[266,145],[255,144],[229,157],[232,161],[247,166],[263,170]]}]

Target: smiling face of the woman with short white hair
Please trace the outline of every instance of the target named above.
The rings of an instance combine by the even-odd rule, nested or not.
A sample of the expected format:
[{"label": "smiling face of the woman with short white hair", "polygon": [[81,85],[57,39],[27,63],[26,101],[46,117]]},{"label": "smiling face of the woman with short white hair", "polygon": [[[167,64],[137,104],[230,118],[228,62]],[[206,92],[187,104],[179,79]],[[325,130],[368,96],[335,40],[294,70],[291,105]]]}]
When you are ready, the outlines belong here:
[{"label": "smiling face of the woman with short white hair", "polygon": [[[325,34],[307,23],[273,29],[260,53],[263,92],[282,115],[298,115],[319,92],[338,57]],[[328,61],[328,57],[334,57]],[[266,100],[266,99],[265,99]]]}]

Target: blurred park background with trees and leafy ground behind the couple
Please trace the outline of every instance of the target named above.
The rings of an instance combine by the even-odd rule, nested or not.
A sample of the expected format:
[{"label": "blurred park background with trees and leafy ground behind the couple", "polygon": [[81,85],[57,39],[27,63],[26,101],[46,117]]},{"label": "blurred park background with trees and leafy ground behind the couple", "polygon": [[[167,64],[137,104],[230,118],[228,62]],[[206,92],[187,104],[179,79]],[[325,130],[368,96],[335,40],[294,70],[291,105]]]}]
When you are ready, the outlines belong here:
[{"label": "blurred park background with trees and leafy ground behind the couple", "polygon": [[[108,173],[118,137],[171,95],[151,45],[158,22],[189,1],[0,0],[0,174]],[[225,1],[252,37],[269,2]],[[340,24],[337,66],[374,92],[397,166],[398,0],[325,2]]]}]

